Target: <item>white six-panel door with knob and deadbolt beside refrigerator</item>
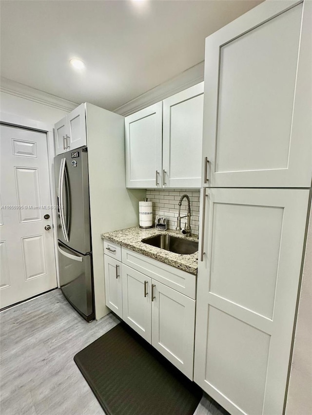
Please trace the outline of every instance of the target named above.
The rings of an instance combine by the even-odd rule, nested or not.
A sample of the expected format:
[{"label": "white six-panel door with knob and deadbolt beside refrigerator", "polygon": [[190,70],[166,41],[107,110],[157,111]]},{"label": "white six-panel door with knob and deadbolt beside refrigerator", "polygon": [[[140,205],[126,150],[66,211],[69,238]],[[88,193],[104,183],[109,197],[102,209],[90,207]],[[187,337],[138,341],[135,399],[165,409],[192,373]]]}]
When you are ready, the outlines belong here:
[{"label": "white six-panel door with knob and deadbolt beside refrigerator", "polygon": [[46,134],[0,128],[3,308],[57,287],[57,279]]}]

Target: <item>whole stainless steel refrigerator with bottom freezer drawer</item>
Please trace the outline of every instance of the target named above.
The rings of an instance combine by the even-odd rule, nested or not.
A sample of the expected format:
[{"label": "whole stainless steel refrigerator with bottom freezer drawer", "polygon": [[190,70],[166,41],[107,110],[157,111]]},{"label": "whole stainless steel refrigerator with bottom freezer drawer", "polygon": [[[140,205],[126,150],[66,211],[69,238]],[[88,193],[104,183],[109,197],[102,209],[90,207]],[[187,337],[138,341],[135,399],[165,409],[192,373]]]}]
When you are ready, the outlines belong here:
[{"label": "whole stainless steel refrigerator with bottom freezer drawer", "polygon": [[95,312],[87,147],[55,157],[54,170],[60,288],[78,313],[92,321]]}]

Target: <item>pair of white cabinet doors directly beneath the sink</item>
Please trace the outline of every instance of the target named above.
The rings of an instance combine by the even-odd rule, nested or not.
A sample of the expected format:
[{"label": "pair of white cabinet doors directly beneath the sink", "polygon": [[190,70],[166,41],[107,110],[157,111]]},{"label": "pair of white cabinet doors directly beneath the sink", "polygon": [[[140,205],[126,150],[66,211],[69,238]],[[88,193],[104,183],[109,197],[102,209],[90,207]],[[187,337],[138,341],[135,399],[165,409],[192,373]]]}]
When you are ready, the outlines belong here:
[{"label": "pair of white cabinet doors directly beneath the sink", "polygon": [[123,320],[193,379],[195,300],[122,264]]}]

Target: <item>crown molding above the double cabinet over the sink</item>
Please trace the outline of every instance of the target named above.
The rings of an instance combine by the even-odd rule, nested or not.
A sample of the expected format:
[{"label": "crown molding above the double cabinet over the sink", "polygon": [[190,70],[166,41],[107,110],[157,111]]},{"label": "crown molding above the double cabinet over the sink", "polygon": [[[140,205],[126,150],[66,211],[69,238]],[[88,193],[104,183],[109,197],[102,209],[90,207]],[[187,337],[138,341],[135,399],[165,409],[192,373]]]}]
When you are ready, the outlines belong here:
[{"label": "crown molding above the double cabinet over the sink", "polygon": [[137,98],[123,104],[122,106],[114,109],[117,114],[127,116],[134,112],[146,108],[149,105],[153,105],[156,102],[162,101],[177,92],[186,90],[193,85],[198,84],[204,80],[204,61],[199,62],[197,65],[192,66],[184,72],[174,78],[169,79],[163,84],[157,85],[155,88],[144,92]]}]

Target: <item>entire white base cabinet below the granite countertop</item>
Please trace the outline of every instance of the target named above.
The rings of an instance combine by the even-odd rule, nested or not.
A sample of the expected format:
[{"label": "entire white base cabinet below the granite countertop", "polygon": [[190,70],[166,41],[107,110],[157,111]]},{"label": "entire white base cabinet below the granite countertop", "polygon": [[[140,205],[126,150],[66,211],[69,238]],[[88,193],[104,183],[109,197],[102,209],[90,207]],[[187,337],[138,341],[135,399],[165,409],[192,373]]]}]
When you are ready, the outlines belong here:
[{"label": "entire white base cabinet below the granite countertop", "polygon": [[[105,247],[119,256],[120,246]],[[193,380],[196,276],[125,248],[121,263],[112,251],[104,255],[106,306]]]}]

